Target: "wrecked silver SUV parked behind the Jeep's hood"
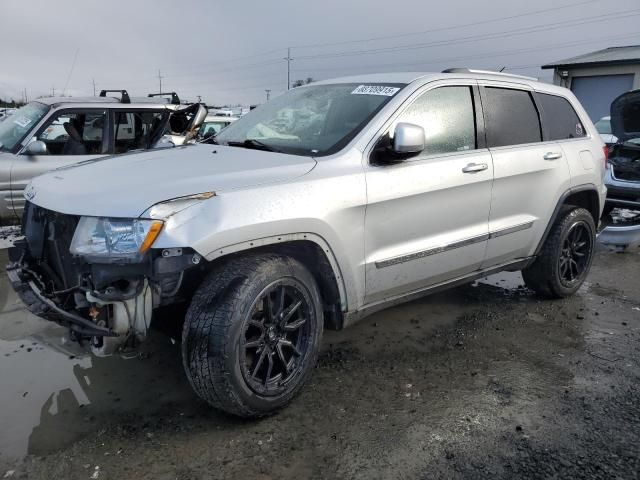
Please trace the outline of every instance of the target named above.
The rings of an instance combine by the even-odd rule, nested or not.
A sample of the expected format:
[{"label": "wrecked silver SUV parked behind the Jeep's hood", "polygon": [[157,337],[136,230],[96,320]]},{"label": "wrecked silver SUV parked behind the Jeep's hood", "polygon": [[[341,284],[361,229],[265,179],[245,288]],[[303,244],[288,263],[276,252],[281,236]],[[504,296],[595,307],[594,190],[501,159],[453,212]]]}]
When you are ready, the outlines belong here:
[{"label": "wrecked silver SUV parked behind the Jeep's hood", "polygon": [[[40,98],[0,123],[0,222],[15,222],[22,191],[41,173],[93,158],[159,145],[163,135],[182,144],[195,136],[206,109],[163,99]],[[189,133],[191,132],[191,133]],[[169,141],[162,146],[171,145]]]}]

